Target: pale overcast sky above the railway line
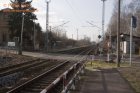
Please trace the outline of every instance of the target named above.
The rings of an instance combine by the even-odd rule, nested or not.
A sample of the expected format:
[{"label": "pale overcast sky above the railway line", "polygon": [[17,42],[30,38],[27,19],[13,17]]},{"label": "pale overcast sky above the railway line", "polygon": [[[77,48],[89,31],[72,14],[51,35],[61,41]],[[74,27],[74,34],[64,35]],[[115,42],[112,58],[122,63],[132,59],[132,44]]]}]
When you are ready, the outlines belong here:
[{"label": "pale overcast sky above the railway line", "polygon": [[[115,0],[105,1],[105,30],[109,24]],[[128,0],[129,1],[129,0]],[[0,0],[0,9],[6,8],[10,0]],[[7,5],[4,5],[7,4]],[[83,39],[88,36],[92,41],[98,41],[98,35],[102,34],[102,4],[101,0],[51,0],[49,3],[49,26],[65,29],[69,38]],[[46,0],[33,0],[32,6],[37,8],[35,12],[42,29],[46,28]],[[87,22],[97,27],[91,27]],[[59,26],[67,23],[64,26]]]}]

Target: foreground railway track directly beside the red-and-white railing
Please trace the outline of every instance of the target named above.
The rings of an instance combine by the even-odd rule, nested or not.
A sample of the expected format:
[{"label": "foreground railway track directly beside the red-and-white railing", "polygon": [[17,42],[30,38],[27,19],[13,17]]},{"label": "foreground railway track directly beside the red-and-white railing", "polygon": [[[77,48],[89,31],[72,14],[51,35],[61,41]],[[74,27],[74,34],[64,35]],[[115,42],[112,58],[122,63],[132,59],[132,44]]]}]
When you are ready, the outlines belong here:
[{"label": "foreground railway track directly beside the red-and-white railing", "polygon": [[40,93],[44,88],[49,86],[53,81],[57,79],[57,77],[63,74],[63,72],[65,72],[73,64],[73,62],[69,61],[63,62],[58,66],[55,66],[54,68],[48,70],[47,72],[22,84],[21,86],[8,91],[7,93]]}]

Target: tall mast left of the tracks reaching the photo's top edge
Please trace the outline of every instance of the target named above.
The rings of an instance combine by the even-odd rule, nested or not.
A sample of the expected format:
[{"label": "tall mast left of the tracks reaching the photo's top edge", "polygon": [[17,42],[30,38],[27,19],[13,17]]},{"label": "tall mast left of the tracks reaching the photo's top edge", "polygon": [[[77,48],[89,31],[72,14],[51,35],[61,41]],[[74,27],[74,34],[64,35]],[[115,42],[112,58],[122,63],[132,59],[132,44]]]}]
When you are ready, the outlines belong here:
[{"label": "tall mast left of the tracks reaching the photo's top edge", "polygon": [[45,38],[45,51],[48,50],[48,29],[49,29],[49,3],[50,0],[46,1],[46,38]]}]

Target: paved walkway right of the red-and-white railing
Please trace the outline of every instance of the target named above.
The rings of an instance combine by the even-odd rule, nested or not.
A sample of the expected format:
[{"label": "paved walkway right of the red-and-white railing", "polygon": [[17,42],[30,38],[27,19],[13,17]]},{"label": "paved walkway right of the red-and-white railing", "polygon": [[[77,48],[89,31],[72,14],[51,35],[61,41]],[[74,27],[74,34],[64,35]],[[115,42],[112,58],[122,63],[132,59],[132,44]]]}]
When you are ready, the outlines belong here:
[{"label": "paved walkway right of the red-and-white railing", "polygon": [[71,93],[134,93],[116,69],[86,70]]}]

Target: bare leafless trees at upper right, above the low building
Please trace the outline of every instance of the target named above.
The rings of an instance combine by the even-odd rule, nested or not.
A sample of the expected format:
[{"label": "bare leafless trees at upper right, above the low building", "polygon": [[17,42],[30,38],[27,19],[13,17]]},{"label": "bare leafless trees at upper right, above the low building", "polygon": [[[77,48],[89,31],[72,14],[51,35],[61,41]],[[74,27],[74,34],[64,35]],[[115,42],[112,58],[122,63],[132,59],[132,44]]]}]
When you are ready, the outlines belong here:
[{"label": "bare leafless trees at upper right, above the low building", "polygon": [[[122,0],[123,1],[123,0]],[[117,1],[115,2],[112,17],[107,29],[112,32],[112,35],[117,34]],[[140,19],[140,0],[132,0],[128,5],[125,1],[121,2],[121,33],[129,34],[131,28],[131,16],[134,15]],[[140,35],[140,23],[137,24],[137,31],[133,32],[134,35]]]}]

